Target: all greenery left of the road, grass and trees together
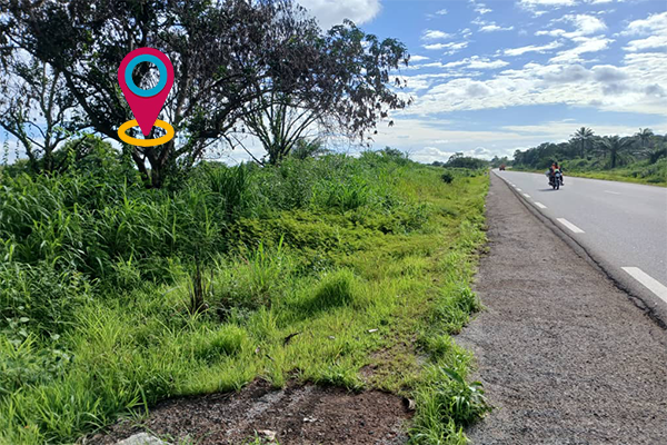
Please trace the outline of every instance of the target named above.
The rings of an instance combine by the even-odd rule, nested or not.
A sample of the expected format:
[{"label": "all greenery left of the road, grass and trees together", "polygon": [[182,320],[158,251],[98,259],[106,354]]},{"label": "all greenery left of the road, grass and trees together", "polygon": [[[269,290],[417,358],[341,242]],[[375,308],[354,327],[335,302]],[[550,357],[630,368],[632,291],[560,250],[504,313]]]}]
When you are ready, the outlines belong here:
[{"label": "all greenery left of the road, grass and trees together", "polygon": [[[480,308],[486,165],[326,146],[409,106],[400,41],[291,0],[2,4],[0,443],[73,443],[257,378],[405,395],[414,443],[465,443],[489,407],[450,335]],[[175,68],[158,147],[117,134],[141,47]],[[251,162],[210,161],[229,150]]]}]

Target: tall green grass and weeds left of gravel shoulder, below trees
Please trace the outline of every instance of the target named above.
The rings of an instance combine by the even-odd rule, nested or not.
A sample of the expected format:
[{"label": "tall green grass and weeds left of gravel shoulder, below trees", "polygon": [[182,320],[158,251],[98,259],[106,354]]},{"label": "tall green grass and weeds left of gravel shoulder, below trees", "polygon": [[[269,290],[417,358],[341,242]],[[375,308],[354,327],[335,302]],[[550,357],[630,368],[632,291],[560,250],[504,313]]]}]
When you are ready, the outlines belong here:
[{"label": "tall green grass and weeds left of gravel shoulder, below trees", "polygon": [[86,170],[0,178],[0,442],[255,378],[415,397],[414,443],[465,443],[486,412],[449,335],[479,309],[488,177],[381,154],[203,166],[171,191]]}]

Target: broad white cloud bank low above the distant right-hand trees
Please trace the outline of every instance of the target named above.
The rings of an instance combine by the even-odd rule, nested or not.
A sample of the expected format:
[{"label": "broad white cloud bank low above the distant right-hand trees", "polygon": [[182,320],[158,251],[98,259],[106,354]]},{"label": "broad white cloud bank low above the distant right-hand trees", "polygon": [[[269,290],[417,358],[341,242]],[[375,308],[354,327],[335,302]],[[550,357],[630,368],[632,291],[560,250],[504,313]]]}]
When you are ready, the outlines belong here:
[{"label": "broad white cloud bank low above the distant right-hand trees", "polygon": [[417,97],[415,105],[402,113],[430,116],[457,110],[561,103],[667,117],[666,100],[667,53],[639,52],[626,55],[618,67],[597,65],[586,68],[576,61],[531,62],[485,80],[471,77],[445,79]]}]

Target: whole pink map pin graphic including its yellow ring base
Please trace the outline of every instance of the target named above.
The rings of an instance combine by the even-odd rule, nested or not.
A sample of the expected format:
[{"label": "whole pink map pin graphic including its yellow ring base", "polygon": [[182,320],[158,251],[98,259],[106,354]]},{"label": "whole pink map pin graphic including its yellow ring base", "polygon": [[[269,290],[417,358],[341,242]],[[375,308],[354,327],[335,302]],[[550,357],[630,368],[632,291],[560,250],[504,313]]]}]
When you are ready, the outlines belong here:
[{"label": "whole pink map pin graphic including its yellow ring base", "polygon": [[[150,62],[158,68],[160,79],[158,85],[150,89],[140,88],[132,78],[135,68],[141,62]],[[155,147],[170,141],[175,135],[173,127],[158,119],[173,87],[173,66],[169,58],[153,48],[136,49],[122,59],[118,69],[118,83],[135,115],[135,120],[125,122],[118,129],[120,139],[139,147]],[[128,136],[127,130],[136,126],[139,126],[147,137],[153,127],[165,129],[167,135],[158,139],[137,139]]]}]

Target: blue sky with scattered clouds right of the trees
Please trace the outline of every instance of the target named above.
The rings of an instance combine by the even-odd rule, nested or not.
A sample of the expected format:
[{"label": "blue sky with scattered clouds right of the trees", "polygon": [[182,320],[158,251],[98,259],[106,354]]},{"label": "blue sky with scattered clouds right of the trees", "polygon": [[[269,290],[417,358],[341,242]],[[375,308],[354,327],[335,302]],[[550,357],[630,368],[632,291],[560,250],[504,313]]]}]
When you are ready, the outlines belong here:
[{"label": "blue sky with scattered clouds right of the trees", "polygon": [[638,0],[301,0],[404,41],[415,105],[376,146],[419,161],[511,156],[580,126],[667,132],[667,2]]}]

